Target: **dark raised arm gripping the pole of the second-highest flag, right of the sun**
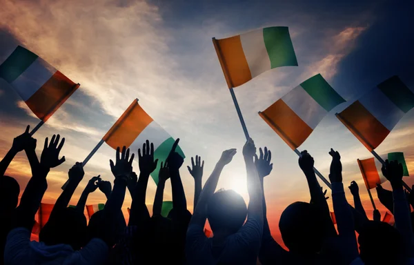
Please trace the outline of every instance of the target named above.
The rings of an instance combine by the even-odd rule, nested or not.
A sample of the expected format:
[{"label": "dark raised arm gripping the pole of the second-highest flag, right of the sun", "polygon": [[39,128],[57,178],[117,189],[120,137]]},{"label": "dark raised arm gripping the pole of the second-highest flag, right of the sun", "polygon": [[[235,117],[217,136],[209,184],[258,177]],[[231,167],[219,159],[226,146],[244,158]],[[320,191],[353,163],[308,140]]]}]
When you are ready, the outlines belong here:
[{"label": "dark raised arm gripping the pole of the second-highest flag, right of the sun", "polygon": [[333,237],[337,235],[337,233],[331,219],[331,212],[329,210],[328,203],[326,202],[325,195],[322,193],[322,188],[316,179],[315,171],[313,170],[314,164],[315,161],[308,151],[302,151],[301,156],[299,157],[299,166],[304,172],[306,181],[308,181],[309,192],[311,193],[311,202],[317,206],[321,213],[325,224],[324,227],[326,228],[326,237]]}]

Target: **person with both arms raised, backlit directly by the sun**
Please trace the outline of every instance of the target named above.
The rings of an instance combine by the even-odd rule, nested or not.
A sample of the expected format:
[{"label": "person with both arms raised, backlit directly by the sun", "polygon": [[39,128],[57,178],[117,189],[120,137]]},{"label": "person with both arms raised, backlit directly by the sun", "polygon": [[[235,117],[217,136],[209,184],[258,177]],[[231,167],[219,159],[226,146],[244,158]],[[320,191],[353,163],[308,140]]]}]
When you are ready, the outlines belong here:
[{"label": "person with both arms raised, backlit directly by the sun", "polygon": [[[250,197],[247,210],[242,197],[233,190],[215,193],[221,171],[233,159],[236,150],[222,153],[201,191],[188,226],[188,264],[256,264],[263,233],[263,190],[253,161],[255,153],[255,144],[249,139],[243,148]],[[204,235],[206,219],[213,230],[213,238]]]}]

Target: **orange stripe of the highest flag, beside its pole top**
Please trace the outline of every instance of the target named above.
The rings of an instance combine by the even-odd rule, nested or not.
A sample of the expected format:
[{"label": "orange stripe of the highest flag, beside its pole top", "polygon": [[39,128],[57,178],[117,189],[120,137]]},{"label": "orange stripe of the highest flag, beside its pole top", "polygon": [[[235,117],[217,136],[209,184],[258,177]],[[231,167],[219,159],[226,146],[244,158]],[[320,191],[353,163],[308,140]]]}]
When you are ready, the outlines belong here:
[{"label": "orange stripe of the highest flag, beside its pole top", "polygon": [[213,40],[213,43],[215,44],[215,50],[226,77],[228,88],[235,88],[252,79],[252,74],[244,55],[242,41],[240,41],[240,35]]}]

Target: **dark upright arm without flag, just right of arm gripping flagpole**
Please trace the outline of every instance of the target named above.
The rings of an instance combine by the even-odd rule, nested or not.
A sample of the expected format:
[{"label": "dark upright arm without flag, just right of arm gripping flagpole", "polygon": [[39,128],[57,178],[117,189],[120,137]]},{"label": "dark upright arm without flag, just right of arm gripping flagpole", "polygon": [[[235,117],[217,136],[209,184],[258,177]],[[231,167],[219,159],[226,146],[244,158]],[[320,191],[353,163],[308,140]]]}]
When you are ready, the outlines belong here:
[{"label": "dark upright arm without flag, just right of arm gripping flagpole", "polygon": [[329,155],[332,157],[329,179],[332,184],[333,210],[337,220],[339,238],[344,242],[341,248],[342,259],[346,264],[351,264],[359,257],[353,214],[346,201],[344,184],[342,184],[341,156],[332,148]]}]

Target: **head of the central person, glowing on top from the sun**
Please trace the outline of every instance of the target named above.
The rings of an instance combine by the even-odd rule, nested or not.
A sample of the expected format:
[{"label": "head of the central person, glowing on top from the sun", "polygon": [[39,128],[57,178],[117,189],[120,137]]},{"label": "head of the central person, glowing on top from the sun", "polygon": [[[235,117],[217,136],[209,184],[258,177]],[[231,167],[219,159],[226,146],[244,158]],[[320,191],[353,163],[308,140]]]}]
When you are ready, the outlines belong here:
[{"label": "head of the central person, glowing on top from the sun", "polygon": [[246,203],[234,190],[218,190],[208,200],[207,218],[213,234],[236,233],[246,216]]}]

